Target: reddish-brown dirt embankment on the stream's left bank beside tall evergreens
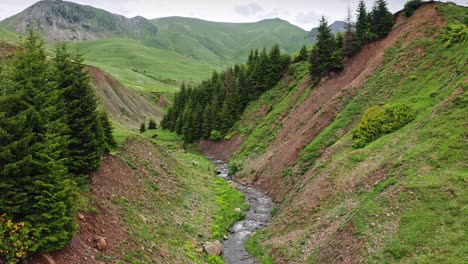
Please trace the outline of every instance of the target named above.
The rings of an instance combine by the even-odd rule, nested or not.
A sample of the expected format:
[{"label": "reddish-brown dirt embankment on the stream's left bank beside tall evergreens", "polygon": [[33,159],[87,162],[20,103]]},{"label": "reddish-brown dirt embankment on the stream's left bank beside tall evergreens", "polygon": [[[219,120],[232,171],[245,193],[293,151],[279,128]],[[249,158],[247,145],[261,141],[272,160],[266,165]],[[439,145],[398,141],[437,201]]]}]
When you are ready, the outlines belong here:
[{"label": "reddish-brown dirt embankment on the stream's left bank beside tall evergreens", "polygon": [[[161,155],[165,154],[151,143],[129,140],[120,155],[131,158],[124,161],[124,158],[108,155],[101,168],[91,174],[88,182],[90,193],[85,194],[89,207],[82,208],[78,213],[78,231],[72,241],[64,249],[51,254],[56,263],[114,263],[122,261],[129,252],[144,250],[145,245],[131,235],[129,223],[126,222],[128,215],[124,216],[127,213],[119,201],[148,205],[157,203],[160,197],[170,201],[181,192],[181,182],[169,167],[176,161],[169,156],[162,158]],[[154,175],[158,175],[157,178]],[[149,191],[148,184],[157,185],[157,193]],[[142,210],[139,217],[141,219],[137,221],[141,221],[140,225],[161,221],[161,216],[156,212]],[[103,239],[105,247],[100,248],[99,241]],[[146,251],[145,254],[153,255],[155,263],[170,262],[164,260],[165,255],[161,256],[160,252],[165,252],[165,249],[158,241],[154,241],[152,248]],[[36,255],[28,263],[48,262]]]}]

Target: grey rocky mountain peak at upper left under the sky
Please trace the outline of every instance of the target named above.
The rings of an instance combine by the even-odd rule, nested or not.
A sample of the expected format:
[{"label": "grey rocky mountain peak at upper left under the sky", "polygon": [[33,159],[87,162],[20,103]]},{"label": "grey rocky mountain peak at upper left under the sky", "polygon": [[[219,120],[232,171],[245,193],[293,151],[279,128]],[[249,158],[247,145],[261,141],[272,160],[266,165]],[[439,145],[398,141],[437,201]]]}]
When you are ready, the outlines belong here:
[{"label": "grey rocky mountain peak at upper left under the sky", "polygon": [[24,34],[28,26],[48,41],[83,41],[109,37],[146,42],[156,37],[157,28],[143,17],[126,18],[91,6],[61,0],[43,0],[9,17],[0,26]]}]

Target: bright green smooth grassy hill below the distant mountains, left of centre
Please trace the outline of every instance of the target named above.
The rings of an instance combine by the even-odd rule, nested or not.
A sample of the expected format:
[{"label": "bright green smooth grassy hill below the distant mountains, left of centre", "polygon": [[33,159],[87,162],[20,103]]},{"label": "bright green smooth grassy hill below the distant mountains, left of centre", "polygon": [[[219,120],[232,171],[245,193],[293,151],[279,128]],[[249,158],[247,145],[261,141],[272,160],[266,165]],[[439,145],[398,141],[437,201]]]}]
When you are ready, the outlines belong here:
[{"label": "bright green smooth grassy hill below the distant mountains, left of centre", "polygon": [[144,46],[131,39],[103,39],[71,43],[84,53],[86,63],[112,74],[132,89],[174,91],[180,82],[198,82],[212,67],[176,52]]}]

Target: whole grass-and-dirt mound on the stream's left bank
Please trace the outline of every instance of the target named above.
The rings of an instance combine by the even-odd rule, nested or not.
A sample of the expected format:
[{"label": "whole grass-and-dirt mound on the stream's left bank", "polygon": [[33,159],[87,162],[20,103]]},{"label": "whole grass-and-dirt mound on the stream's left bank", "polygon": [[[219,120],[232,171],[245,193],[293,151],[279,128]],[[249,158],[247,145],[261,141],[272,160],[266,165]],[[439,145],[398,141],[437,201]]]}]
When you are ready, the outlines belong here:
[{"label": "whole grass-and-dirt mound on the stream's left bank", "polygon": [[[104,158],[78,199],[78,233],[57,263],[222,263],[203,243],[224,235],[242,194],[217,178],[205,157],[182,153],[182,141],[165,131],[143,135],[117,130],[119,148]],[[125,134],[125,135],[124,135]],[[154,134],[158,137],[151,139]],[[232,199],[225,201],[223,197]],[[225,201],[225,202],[220,202]],[[236,213],[237,216],[243,212]],[[96,237],[107,242],[97,250]],[[201,250],[200,250],[201,249]],[[34,256],[32,262],[40,262]]]}]

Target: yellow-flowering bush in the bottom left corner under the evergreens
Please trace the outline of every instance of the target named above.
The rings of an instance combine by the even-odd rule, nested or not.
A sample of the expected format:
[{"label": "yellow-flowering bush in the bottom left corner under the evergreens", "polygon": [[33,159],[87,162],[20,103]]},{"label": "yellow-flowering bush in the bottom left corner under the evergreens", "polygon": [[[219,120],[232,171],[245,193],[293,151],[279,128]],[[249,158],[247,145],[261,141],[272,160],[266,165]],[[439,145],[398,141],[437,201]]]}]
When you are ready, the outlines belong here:
[{"label": "yellow-flowering bush in the bottom left corner under the evergreens", "polygon": [[33,245],[29,233],[27,223],[14,223],[6,214],[0,215],[0,262],[18,263],[26,257]]}]

